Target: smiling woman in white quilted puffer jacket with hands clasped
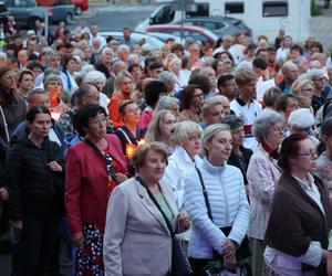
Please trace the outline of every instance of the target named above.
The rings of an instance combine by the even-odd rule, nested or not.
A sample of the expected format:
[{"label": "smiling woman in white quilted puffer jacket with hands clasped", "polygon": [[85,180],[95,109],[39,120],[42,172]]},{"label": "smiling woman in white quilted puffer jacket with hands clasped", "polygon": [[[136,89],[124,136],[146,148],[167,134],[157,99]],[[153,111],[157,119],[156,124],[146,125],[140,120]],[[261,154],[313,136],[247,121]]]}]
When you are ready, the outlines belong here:
[{"label": "smiling woman in white quilted puffer jacket with hands clasped", "polygon": [[193,222],[189,262],[195,276],[203,275],[211,259],[224,262],[224,268],[235,273],[236,253],[245,257],[248,252],[241,244],[248,230],[249,205],[240,170],[227,164],[231,152],[229,126],[208,126],[203,147],[204,160],[185,178],[185,209]]}]

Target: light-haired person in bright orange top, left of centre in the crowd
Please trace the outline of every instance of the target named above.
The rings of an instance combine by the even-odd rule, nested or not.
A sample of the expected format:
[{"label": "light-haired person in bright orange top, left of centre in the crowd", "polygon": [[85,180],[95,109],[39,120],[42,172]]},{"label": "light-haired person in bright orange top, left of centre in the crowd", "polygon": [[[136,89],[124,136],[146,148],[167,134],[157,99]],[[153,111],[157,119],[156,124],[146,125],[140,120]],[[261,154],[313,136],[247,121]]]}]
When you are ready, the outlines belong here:
[{"label": "light-haired person in bright orange top, left of centre in the crowd", "polygon": [[134,78],[127,71],[121,71],[115,79],[116,92],[113,94],[108,104],[110,119],[113,121],[113,127],[116,129],[123,125],[122,116],[118,112],[118,105],[124,99],[129,99],[134,89]]}]

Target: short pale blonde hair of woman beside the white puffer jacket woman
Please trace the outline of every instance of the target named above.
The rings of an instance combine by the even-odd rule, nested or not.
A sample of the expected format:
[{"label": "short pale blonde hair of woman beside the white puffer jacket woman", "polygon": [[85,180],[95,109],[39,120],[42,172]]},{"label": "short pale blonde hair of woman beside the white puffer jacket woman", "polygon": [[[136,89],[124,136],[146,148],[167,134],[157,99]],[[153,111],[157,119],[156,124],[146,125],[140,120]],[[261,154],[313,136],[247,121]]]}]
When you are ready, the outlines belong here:
[{"label": "short pale blonde hair of woman beside the white puffer jacket woman", "polygon": [[201,127],[191,120],[184,120],[176,123],[174,127],[173,135],[170,139],[176,144],[180,145],[181,142],[188,140],[193,135],[203,135]]}]

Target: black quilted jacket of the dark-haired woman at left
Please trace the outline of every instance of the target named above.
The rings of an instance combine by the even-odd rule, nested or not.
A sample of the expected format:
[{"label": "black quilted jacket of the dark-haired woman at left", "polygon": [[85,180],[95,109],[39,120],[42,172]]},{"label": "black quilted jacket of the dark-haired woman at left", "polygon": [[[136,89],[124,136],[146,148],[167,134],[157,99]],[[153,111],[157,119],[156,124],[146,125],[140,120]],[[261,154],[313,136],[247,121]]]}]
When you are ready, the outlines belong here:
[{"label": "black quilted jacket of the dark-haired woman at left", "polygon": [[[54,160],[62,166],[61,173],[48,168]],[[27,136],[13,144],[6,159],[4,184],[10,189],[12,220],[59,213],[64,190],[64,160],[59,145],[45,139],[38,148]]]}]

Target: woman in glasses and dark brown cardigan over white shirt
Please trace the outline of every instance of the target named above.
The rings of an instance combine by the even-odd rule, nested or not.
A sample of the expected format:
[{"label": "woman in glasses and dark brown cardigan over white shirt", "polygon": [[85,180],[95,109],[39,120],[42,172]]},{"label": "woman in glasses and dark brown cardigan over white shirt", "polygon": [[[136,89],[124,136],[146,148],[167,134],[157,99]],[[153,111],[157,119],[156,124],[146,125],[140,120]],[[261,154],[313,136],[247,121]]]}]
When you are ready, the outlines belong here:
[{"label": "woman in glasses and dark brown cardigan over white shirt", "polygon": [[277,275],[326,275],[332,211],[317,170],[315,147],[308,136],[291,135],[281,146],[283,169],[266,233],[264,261]]}]

